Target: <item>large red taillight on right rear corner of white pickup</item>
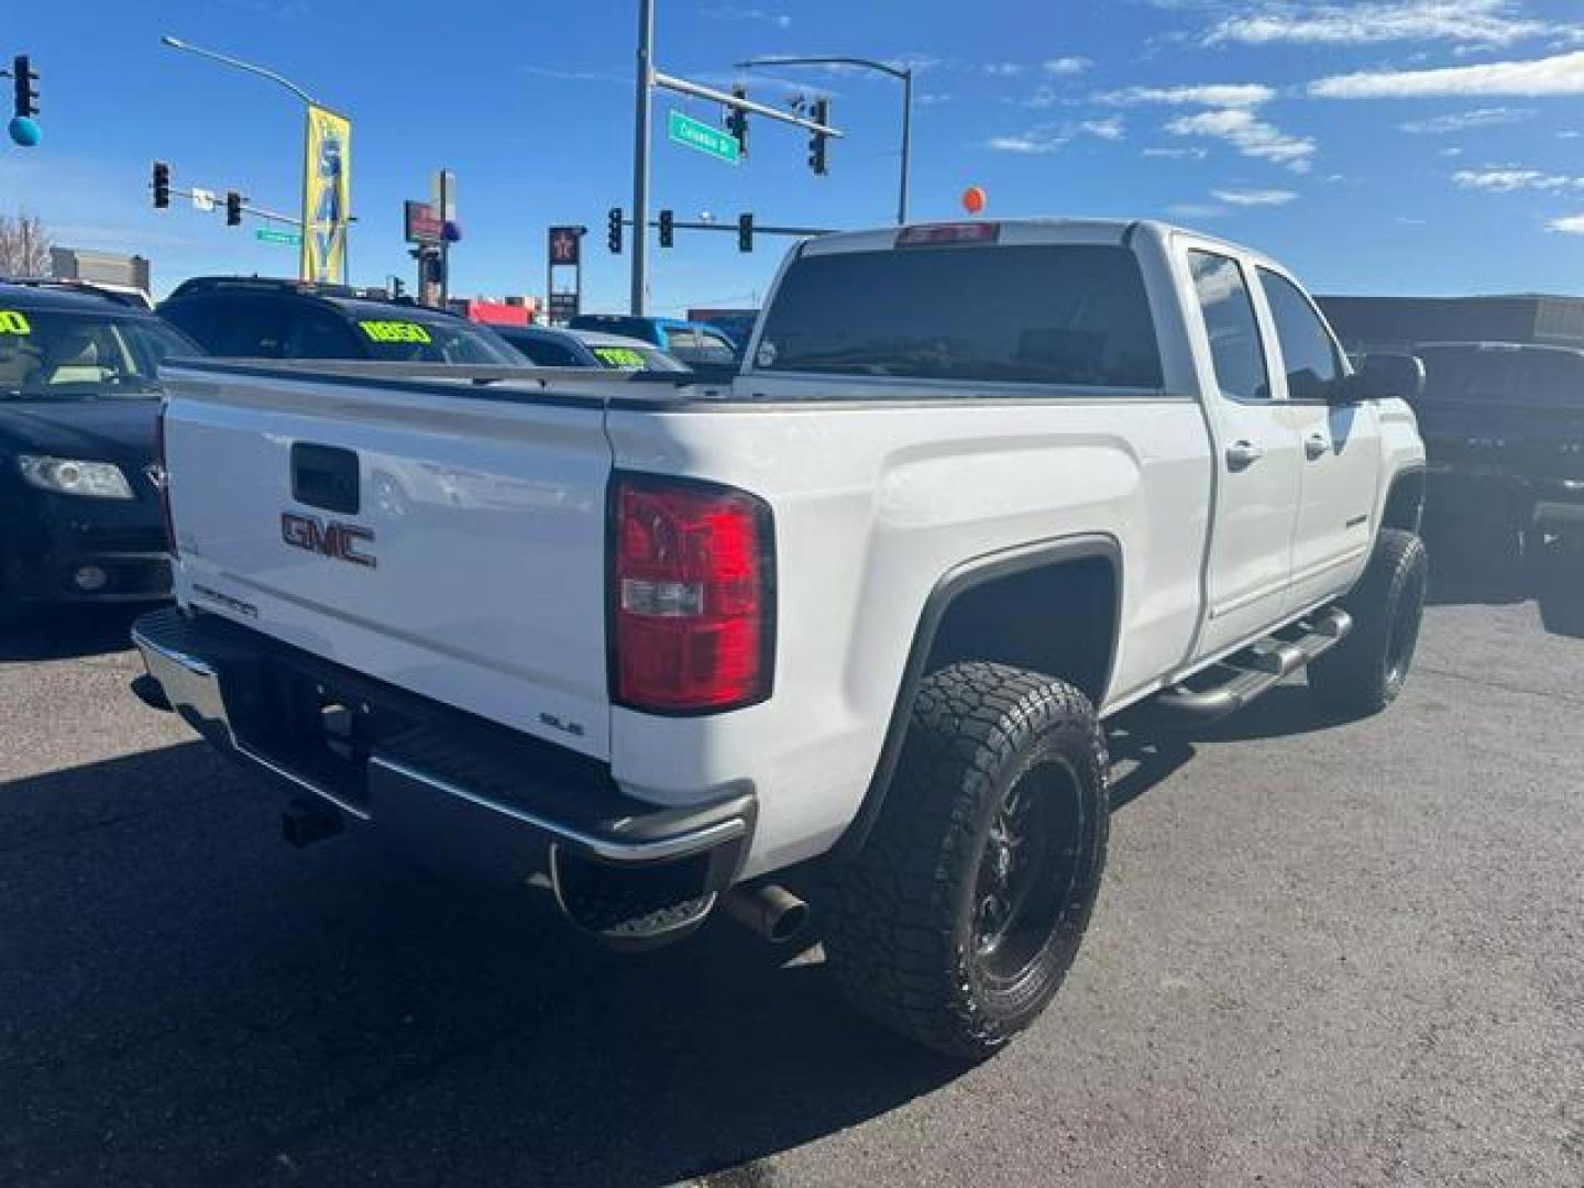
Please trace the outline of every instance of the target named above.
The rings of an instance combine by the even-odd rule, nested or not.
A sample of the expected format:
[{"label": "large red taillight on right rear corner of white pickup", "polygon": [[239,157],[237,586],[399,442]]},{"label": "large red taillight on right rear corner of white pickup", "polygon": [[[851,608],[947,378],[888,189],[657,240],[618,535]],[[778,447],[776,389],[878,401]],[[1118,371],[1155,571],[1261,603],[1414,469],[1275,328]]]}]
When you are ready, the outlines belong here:
[{"label": "large red taillight on right rear corner of white pickup", "polygon": [[611,491],[613,699],[733,710],[770,695],[770,508],[744,491],[618,477]]}]

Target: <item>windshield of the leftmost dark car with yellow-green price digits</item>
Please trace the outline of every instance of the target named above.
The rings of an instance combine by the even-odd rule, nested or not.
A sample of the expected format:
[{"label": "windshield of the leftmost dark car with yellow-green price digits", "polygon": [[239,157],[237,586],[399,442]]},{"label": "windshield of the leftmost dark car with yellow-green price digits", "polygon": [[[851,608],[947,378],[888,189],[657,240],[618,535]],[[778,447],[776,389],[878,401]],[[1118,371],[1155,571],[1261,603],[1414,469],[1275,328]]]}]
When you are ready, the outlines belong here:
[{"label": "windshield of the leftmost dark car with yellow-green price digits", "polygon": [[0,304],[0,399],[147,399],[160,360],[200,353],[152,317]]}]

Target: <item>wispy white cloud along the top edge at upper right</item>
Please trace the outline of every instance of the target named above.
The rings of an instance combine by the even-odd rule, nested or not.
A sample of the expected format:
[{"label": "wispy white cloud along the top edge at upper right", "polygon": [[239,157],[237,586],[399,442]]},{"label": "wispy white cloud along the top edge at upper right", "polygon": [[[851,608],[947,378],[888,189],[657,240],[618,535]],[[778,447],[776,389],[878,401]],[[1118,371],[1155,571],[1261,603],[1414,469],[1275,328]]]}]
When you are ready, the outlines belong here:
[{"label": "wispy white cloud along the top edge at upper right", "polygon": [[1510,46],[1563,27],[1519,14],[1511,0],[1386,0],[1384,3],[1264,3],[1218,21],[1204,41],[1221,44],[1369,46],[1456,41]]}]

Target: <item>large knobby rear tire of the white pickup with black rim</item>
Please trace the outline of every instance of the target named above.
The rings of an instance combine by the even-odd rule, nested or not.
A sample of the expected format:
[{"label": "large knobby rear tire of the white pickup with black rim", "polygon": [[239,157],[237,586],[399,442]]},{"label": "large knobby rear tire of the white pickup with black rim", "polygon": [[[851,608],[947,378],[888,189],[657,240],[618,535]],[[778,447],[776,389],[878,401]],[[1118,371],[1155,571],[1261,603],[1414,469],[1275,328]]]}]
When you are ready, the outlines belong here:
[{"label": "large knobby rear tire of the white pickup with black rim", "polygon": [[[832,871],[822,904],[827,961],[849,1001],[968,1060],[1028,1026],[1072,965],[1099,892],[1106,768],[1106,737],[1074,686],[982,662],[927,676],[881,817]],[[1038,822],[1019,843],[1033,865],[1020,871],[1022,908],[1004,917],[1007,947],[987,955],[980,895],[985,878],[1006,878],[1014,803]]]}]

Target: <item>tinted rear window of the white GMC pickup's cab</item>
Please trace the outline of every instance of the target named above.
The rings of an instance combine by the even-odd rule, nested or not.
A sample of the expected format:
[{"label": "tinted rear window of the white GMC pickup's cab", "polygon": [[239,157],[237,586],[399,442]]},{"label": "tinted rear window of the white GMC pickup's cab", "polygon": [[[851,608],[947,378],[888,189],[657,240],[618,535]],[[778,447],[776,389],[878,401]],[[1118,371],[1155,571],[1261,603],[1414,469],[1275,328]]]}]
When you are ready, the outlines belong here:
[{"label": "tinted rear window of the white GMC pickup's cab", "polygon": [[759,371],[1158,388],[1133,252],[1117,246],[813,253],[765,314]]}]

